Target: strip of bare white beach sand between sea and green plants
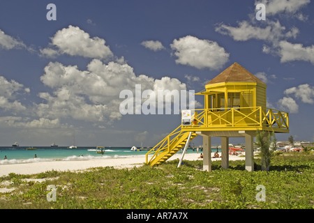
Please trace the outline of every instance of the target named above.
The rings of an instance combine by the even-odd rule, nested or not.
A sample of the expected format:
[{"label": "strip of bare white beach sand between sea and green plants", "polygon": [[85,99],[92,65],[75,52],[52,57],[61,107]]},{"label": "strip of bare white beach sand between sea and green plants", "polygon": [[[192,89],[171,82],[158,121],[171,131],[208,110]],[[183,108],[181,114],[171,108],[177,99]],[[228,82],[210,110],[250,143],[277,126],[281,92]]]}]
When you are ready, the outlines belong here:
[{"label": "strip of bare white beach sand between sea and green plants", "polygon": [[[180,159],[182,153],[174,154],[169,160]],[[214,153],[211,154],[211,157]],[[184,160],[197,160],[200,153],[186,153]],[[198,159],[200,160],[200,159]],[[221,158],[212,158],[221,160]],[[229,160],[244,160],[244,157],[229,155]],[[15,174],[39,174],[45,171],[78,171],[93,167],[114,167],[114,168],[133,168],[140,167],[145,162],[145,155],[137,155],[126,158],[108,158],[94,160],[77,160],[77,161],[50,161],[50,162],[31,162],[23,164],[1,164],[0,176],[6,176],[10,173]]]}]

